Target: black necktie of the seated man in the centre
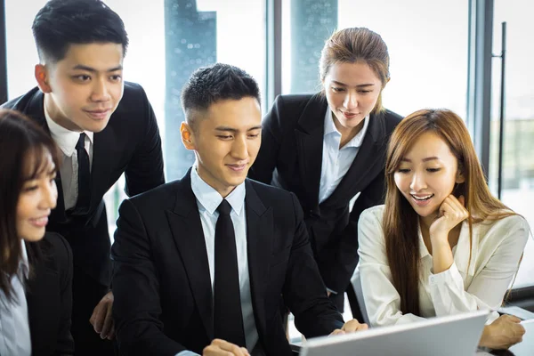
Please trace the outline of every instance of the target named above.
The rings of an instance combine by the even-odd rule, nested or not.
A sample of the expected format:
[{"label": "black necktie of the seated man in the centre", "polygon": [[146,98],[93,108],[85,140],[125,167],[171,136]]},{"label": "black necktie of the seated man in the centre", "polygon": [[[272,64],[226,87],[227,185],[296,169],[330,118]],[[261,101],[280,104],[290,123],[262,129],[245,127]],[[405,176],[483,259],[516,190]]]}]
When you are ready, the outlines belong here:
[{"label": "black necktie of the seated man in the centre", "polygon": [[232,344],[246,347],[239,293],[238,256],[231,223],[231,206],[223,199],[215,225],[214,332]]}]

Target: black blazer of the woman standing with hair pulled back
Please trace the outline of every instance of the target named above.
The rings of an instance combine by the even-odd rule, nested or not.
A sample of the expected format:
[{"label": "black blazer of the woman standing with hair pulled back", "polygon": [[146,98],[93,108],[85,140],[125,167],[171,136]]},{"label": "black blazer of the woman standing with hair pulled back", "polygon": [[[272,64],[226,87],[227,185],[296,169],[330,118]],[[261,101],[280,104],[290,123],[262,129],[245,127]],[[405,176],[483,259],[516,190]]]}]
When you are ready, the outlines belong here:
[{"label": "black blazer of the woman standing with hair pulled back", "polygon": [[[273,176],[304,210],[313,253],[328,288],[344,292],[358,263],[358,219],[384,202],[385,150],[401,121],[392,111],[372,114],[358,155],[336,190],[319,204],[324,95],[282,95],[263,117],[262,147],[249,177],[271,184]],[[349,213],[350,200],[360,192]]]}]

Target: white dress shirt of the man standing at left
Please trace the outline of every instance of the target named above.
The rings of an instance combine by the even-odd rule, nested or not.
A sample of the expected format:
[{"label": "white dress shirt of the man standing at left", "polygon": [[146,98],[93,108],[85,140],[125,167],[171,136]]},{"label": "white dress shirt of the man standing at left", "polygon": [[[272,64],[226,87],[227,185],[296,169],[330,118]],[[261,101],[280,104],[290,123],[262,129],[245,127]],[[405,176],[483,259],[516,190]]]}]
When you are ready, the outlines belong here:
[{"label": "white dress shirt of the man standing at left", "polygon": [[[60,147],[62,152],[62,161],[60,167],[61,188],[63,189],[63,201],[65,203],[65,210],[76,206],[78,197],[77,186],[77,151],[76,144],[80,138],[77,131],[67,130],[65,127],[56,124],[53,119],[46,112],[44,108],[44,117],[46,117],[46,124],[50,129],[53,141]],[[89,155],[90,169],[93,166],[93,133],[84,131],[85,133],[85,150]]]}]

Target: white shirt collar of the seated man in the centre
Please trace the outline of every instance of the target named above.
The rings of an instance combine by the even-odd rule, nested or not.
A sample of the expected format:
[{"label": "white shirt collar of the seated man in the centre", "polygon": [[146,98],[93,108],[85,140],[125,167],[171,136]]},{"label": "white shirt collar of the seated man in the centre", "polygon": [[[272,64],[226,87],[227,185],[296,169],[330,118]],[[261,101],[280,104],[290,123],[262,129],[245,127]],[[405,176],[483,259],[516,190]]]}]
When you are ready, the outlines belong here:
[{"label": "white shirt collar of the seated man in the centre", "polygon": [[[198,203],[200,203],[209,214],[214,214],[217,207],[223,201],[221,194],[200,178],[200,175],[198,175],[197,172],[197,165],[193,166],[191,169],[191,190],[193,190],[193,194],[195,194]],[[245,182],[242,182],[225,198],[238,216],[241,216],[243,211],[245,195]]]}]

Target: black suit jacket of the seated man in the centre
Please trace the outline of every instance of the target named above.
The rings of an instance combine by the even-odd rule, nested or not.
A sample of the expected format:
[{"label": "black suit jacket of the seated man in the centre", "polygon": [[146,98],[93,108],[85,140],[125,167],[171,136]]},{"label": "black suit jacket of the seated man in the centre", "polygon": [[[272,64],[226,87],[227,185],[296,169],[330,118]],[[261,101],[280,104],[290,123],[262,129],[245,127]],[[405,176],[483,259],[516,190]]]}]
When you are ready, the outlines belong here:
[{"label": "black suit jacket of the seated man in the centre", "polygon": [[[328,300],[295,196],[246,181],[248,272],[259,342],[291,355],[282,300],[306,336],[343,326]],[[190,172],[125,200],[115,243],[113,306],[122,355],[202,353],[214,338],[212,284]]]}]

